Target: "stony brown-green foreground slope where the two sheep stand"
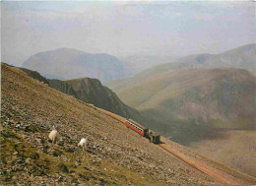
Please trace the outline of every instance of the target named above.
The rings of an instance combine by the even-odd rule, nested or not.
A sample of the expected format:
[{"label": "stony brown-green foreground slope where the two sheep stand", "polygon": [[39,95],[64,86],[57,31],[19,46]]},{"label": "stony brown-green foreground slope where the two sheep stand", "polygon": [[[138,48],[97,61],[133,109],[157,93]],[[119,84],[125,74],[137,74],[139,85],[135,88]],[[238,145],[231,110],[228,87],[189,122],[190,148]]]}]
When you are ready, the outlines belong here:
[{"label": "stony brown-green foreground slope where the two sheep stand", "polygon": [[[87,103],[1,67],[3,185],[220,185]],[[53,126],[56,145],[47,140]],[[77,143],[86,136],[82,151]]]}]

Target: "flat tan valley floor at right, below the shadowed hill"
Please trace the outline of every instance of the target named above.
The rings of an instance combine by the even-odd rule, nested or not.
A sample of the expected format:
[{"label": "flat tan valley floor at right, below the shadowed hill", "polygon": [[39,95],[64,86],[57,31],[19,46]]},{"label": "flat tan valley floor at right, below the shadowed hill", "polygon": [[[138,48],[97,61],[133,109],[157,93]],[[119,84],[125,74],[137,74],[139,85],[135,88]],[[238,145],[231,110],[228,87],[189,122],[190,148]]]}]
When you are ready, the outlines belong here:
[{"label": "flat tan valley floor at right, below the shadowed hill", "polygon": [[253,140],[256,139],[256,132],[227,130],[219,132],[219,136],[193,142],[189,147],[229,167],[256,176],[256,142]]}]

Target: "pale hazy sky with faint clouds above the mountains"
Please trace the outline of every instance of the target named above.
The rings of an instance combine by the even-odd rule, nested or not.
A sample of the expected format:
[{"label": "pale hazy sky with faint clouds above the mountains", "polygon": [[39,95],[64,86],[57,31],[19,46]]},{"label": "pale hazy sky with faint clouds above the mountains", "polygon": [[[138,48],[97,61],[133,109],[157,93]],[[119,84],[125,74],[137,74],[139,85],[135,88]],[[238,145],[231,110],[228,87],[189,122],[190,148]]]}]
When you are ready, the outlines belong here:
[{"label": "pale hazy sky with faint clouds above the mountains", "polygon": [[2,61],[60,47],[90,53],[188,55],[255,43],[253,2],[2,2]]}]

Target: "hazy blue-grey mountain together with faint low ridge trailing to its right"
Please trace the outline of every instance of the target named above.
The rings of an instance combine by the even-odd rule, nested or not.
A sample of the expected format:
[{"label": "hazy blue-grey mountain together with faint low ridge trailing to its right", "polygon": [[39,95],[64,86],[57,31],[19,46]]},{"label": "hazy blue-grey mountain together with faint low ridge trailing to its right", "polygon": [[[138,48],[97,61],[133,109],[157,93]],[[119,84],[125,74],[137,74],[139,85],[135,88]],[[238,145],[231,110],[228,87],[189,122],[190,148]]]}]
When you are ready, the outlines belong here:
[{"label": "hazy blue-grey mountain together with faint low ridge trailing to its right", "polygon": [[91,54],[72,48],[40,52],[23,64],[24,68],[37,71],[44,77],[58,80],[96,78],[109,82],[132,77],[145,69],[173,61],[172,56],[134,55],[119,57],[108,54]]}]

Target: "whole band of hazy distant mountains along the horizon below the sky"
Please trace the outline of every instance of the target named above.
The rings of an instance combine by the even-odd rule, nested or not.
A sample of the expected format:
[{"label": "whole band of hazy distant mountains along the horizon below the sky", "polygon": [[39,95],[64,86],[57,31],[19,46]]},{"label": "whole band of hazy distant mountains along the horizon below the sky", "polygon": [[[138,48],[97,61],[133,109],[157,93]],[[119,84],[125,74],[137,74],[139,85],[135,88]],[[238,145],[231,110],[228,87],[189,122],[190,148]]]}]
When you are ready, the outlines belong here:
[{"label": "whole band of hazy distant mountains along the horizon below the sky", "polygon": [[[218,55],[200,54],[179,59],[172,56],[136,55],[121,57],[121,61],[108,54],[90,54],[72,48],[59,48],[32,55],[24,62],[23,67],[37,71],[50,79],[70,80],[89,77],[105,83],[134,76],[151,67],[153,69],[146,70],[139,76],[151,75],[162,70],[215,67],[245,68],[255,73],[256,69],[253,63],[255,57],[255,44],[242,46]],[[160,64],[163,65],[154,67]],[[116,86],[118,87],[118,84]],[[115,90],[114,87],[112,88]]]}]

